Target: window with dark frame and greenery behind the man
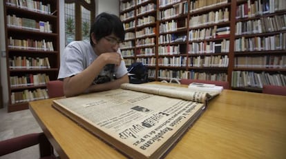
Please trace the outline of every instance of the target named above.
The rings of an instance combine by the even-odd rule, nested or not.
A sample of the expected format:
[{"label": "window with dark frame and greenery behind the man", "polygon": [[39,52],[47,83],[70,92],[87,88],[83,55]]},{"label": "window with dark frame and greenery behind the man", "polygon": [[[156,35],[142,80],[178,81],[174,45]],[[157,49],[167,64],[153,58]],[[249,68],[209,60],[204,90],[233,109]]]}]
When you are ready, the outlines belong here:
[{"label": "window with dark frame and greenery behind the man", "polygon": [[95,1],[65,0],[66,45],[71,41],[88,40],[90,25],[95,19]]}]

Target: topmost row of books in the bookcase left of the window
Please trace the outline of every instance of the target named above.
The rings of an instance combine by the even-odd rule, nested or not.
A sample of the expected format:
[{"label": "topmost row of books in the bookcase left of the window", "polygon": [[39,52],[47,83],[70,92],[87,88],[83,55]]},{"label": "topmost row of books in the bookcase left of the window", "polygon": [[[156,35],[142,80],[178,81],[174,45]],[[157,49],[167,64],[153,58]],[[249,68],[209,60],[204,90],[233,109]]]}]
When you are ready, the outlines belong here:
[{"label": "topmost row of books in the bookcase left of the window", "polygon": [[7,0],[6,4],[10,6],[16,6],[26,10],[32,10],[34,12],[41,12],[43,14],[51,14],[50,4],[44,4],[42,1],[33,0]]}]

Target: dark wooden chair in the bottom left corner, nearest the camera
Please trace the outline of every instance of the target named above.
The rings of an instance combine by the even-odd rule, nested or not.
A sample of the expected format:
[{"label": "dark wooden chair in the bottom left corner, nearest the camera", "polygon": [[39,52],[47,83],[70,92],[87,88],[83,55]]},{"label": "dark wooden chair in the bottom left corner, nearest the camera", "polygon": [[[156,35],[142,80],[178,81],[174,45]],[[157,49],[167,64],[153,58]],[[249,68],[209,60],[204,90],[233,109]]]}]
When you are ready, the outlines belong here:
[{"label": "dark wooden chair in the bottom left corner, nearest the camera", "polygon": [[0,141],[0,156],[4,156],[21,149],[39,145],[40,158],[56,158],[54,150],[44,133],[26,134],[16,138]]}]

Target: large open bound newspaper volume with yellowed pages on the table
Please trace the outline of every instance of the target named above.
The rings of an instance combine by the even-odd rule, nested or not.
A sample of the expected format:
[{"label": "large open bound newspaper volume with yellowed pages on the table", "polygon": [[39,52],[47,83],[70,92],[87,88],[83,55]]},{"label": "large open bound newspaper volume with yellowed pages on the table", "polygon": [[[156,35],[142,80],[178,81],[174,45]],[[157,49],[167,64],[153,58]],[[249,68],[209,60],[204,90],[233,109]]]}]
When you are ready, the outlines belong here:
[{"label": "large open bound newspaper volume with yellowed pages on the table", "polygon": [[120,89],[56,99],[53,107],[129,158],[162,158],[217,94],[126,83]]}]

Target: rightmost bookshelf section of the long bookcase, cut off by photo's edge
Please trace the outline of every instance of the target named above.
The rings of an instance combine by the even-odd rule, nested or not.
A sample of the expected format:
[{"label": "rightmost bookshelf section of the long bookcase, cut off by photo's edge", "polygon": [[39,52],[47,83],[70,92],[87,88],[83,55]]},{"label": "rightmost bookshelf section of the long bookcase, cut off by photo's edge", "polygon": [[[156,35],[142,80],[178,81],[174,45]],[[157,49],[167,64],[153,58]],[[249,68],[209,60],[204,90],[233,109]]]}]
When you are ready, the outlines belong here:
[{"label": "rightmost bookshelf section of the long bookcase, cut off by photo's edge", "polygon": [[231,87],[261,92],[286,85],[284,1],[237,1]]}]

